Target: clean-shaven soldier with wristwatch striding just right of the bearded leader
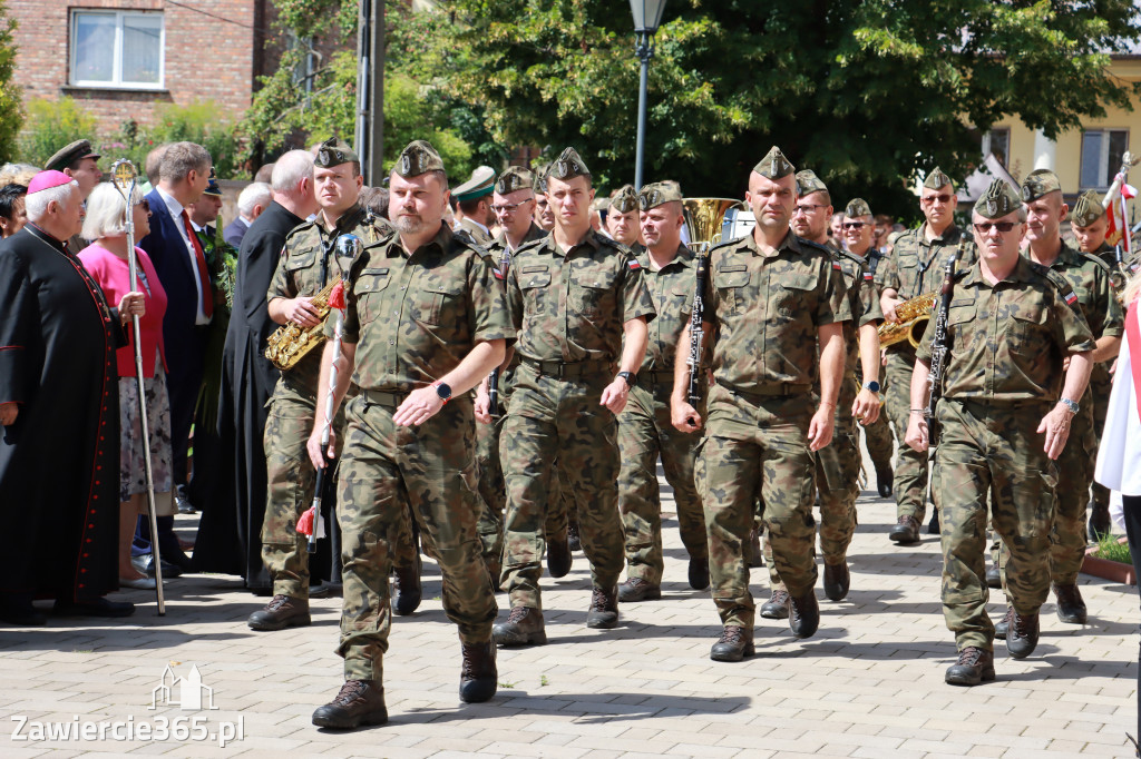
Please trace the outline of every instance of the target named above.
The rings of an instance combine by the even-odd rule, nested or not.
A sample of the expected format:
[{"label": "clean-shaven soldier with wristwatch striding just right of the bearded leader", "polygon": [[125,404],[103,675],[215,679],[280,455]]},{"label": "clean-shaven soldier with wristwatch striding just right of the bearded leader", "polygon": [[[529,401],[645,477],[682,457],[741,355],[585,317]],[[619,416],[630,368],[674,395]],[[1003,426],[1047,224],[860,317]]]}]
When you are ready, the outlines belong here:
[{"label": "clean-shaven soldier with wristwatch striding just right of the bearded leader", "polygon": [[503,582],[511,596],[511,613],[494,630],[500,645],[547,642],[539,578],[555,458],[582,507],[593,585],[586,625],[608,629],[618,621],[615,415],[646,353],[654,304],[629,248],[590,228],[593,194],[590,171],[567,148],[547,177],[555,230],[517,251],[507,278],[520,365],[500,448],[508,495]]}]

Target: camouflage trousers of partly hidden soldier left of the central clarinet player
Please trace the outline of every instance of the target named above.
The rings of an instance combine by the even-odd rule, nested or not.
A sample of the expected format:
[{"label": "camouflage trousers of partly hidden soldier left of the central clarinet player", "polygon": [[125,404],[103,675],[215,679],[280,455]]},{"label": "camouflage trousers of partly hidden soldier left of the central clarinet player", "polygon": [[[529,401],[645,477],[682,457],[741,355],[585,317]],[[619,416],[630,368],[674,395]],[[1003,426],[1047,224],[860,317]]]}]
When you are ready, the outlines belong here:
[{"label": "camouflage trousers of partly hidden soldier left of the central clarinet player", "polygon": [[[662,457],[665,481],[673,488],[681,542],[690,558],[707,561],[705,515],[694,484],[697,435],[679,431],[670,422],[672,384],[630,389],[626,407],[618,415],[618,513],[625,536],[630,578],[662,585],[662,498],[657,485],[657,459]],[[656,392],[655,392],[656,391]]]}]

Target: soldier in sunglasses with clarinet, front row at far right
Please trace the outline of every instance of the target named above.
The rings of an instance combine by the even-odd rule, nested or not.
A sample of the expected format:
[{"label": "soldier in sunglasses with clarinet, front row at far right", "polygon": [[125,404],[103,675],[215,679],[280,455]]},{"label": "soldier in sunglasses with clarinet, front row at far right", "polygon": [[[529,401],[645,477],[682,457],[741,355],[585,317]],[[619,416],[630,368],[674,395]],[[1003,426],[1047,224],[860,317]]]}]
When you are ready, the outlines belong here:
[{"label": "soldier in sunglasses with clarinet, front row at far right", "polygon": [[[1050,591],[1058,481],[1052,459],[1067,444],[1094,348],[1066,277],[1019,254],[1026,209],[1010,185],[990,185],[974,205],[973,226],[978,261],[960,270],[947,316],[932,482],[941,521],[942,611],[958,648],[946,672],[953,685],[995,677],[984,557],[988,496],[992,523],[1011,549],[1006,578],[1014,614],[1006,647],[1025,659],[1037,645],[1038,609]],[[924,335],[912,376],[905,441],[919,451],[928,448],[923,409],[933,334]]]}]

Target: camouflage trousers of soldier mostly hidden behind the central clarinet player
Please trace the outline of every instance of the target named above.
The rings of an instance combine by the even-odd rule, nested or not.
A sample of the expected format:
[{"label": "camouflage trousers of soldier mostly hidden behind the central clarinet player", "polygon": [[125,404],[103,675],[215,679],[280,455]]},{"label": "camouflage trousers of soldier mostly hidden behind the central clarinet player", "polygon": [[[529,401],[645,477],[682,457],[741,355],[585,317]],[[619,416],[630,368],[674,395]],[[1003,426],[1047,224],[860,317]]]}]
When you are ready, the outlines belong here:
[{"label": "camouflage trousers of soldier mostly hidden behind the central clarinet player", "polygon": [[[847,418],[843,418],[845,417]],[[837,410],[832,442],[816,451],[816,489],[820,506],[820,553],[825,564],[843,564],[856,534],[856,499],[863,456],[856,419]],[[787,590],[772,561],[772,545],[764,536],[764,561],[772,591]]]}]

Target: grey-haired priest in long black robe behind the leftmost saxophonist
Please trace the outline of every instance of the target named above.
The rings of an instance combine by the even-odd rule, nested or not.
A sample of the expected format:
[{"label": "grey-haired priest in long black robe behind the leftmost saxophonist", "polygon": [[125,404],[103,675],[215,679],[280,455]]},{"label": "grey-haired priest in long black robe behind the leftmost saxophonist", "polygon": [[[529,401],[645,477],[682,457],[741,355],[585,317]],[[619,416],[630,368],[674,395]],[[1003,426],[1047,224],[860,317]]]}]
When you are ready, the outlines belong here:
[{"label": "grey-haired priest in long black robe behind the leftmost saxophonist", "polygon": [[[273,580],[261,562],[267,493],[262,435],[266,403],[281,377],[265,357],[266,341],[277,328],[269,318],[266,293],[285,236],[317,209],[313,156],[305,150],[286,153],[274,165],[272,183],[273,202],[250,226],[238,251],[234,307],[222,352],[218,432],[225,449],[233,452],[234,498],[203,508],[193,558],[195,571],[240,574],[248,588],[266,593]],[[327,563],[315,562],[314,569]],[[319,571],[313,574],[317,579],[323,579]]]}]

